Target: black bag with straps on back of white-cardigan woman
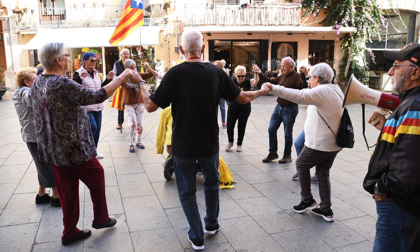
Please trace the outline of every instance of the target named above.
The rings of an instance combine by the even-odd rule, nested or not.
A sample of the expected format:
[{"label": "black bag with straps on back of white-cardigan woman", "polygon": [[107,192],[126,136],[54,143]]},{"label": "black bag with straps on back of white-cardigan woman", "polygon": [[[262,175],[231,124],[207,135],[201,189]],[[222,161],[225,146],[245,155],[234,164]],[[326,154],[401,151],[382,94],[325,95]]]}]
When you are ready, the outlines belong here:
[{"label": "black bag with straps on back of white-cardigan woman", "polygon": [[[337,94],[338,92],[334,90]],[[338,96],[340,96],[338,94]],[[340,97],[341,98],[341,97]],[[343,99],[341,99],[343,100]],[[350,116],[348,115],[347,109],[344,108],[343,115],[341,116],[340,126],[338,127],[337,134],[332,131],[331,127],[327,124],[325,119],[321,116],[318,110],[316,110],[331,132],[335,135],[337,145],[342,148],[353,148],[354,145],[354,130],[351,124]]]}]

